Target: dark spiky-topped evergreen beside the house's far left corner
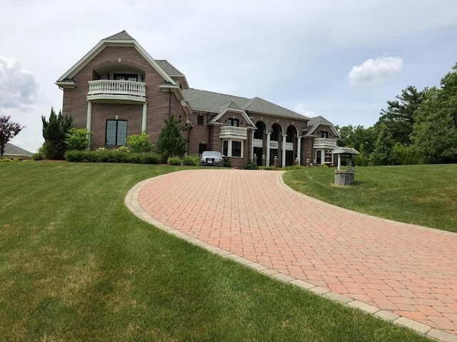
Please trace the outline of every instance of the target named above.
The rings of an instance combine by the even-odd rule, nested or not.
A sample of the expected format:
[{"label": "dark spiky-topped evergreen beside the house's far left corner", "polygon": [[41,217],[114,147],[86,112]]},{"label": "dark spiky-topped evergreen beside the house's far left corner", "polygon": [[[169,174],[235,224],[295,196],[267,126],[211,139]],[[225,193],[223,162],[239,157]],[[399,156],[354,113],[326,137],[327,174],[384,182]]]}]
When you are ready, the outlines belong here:
[{"label": "dark spiky-topped evergreen beside the house's far left corner", "polygon": [[49,121],[46,121],[44,116],[41,116],[43,122],[43,138],[44,138],[44,156],[46,159],[64,160],[65,138],[72,127],[72,120],[69,116],[56,115],[54,108],[51,108]]}]

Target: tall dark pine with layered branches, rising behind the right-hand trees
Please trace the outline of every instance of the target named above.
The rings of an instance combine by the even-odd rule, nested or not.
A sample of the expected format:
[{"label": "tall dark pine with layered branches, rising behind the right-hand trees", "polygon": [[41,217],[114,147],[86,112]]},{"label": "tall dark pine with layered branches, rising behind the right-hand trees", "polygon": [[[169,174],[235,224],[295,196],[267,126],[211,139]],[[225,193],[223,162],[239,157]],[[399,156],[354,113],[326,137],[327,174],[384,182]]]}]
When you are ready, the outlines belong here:
[{"label": "tall dark pine with layered branches, rising behind the right-hand trees", "polygon": [[408,86],[397,95],[397,100],[387,101],[388,108],[381,110],[378,124],[386,124],[395,142],[410,145],[410,135],[413,133],[415,113],[420,107],[426,89],[418,91],[414,86]]}]

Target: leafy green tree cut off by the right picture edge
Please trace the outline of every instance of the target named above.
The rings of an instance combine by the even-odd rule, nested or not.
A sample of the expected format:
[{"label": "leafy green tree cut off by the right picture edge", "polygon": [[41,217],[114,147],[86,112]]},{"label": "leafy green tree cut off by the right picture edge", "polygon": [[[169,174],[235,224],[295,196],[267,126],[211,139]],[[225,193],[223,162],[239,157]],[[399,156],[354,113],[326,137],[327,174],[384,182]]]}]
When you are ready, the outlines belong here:
[{"label": "leafy green tree cut off by the right picture edge", "polygon": [[457,162],[457,63],[441,89],[428,90],[413,128],[411,140],[422,162]]}]

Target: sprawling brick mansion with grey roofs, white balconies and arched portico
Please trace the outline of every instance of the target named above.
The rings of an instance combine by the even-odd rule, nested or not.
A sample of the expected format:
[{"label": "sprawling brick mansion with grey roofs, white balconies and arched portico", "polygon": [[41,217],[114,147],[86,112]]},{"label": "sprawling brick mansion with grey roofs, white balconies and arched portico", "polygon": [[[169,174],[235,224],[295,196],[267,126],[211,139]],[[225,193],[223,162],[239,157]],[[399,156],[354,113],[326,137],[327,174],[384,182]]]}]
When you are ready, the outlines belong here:
[{"label": "sprawling brick mansion with grey roofs, white balconies and arched portico", "polygon": [[56,85],[64,90],[62,113],[94,135],[91,149],[125,145],[146,132],[156,143],[164,118],[183,125],[188,153],[217,150],[244,167],[248,160],[281,166],[325,162],[340,138],[328,120],[306,118],[262,98],[241,98],[189,88],[168,61],[154,60],[129,33],[102,39]]}]

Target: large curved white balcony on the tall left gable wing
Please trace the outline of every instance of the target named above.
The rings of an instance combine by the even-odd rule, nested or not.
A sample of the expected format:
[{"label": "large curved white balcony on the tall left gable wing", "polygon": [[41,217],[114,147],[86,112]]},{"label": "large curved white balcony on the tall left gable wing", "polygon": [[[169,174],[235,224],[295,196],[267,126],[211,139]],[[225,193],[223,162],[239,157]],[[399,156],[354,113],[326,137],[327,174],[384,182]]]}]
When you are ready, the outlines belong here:
[{"label": "large curved white balcony on the tall left gable wing", "polygon": [[101,103],[144,103],[146,83],[135,81],[89,81],[87,100]]}]

